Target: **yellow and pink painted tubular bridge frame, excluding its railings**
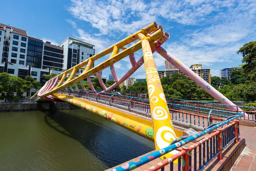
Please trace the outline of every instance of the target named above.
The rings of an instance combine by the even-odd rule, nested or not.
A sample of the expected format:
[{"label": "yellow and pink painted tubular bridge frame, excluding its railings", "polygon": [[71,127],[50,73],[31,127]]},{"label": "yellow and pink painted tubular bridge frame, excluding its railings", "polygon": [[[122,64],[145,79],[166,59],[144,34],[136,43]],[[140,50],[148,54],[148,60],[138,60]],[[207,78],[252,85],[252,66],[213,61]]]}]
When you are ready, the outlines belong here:
[{"label": "yellow and pink painted tubular bridge frame, excluding its railings", "polygon": [[[138,135],[144,136],[145,138],[154,141],[156,151],[161,153],[162,149],[168,147],[170,143],[182,135],[180,135],[180,132],[174,128],[173,123],[175,122],[175,119],[172,118],[173,115],[170,115],[169,104],[166,101],[162,89],[157,66],[153,57],[153,53],[157,52],[163,58],[177,67],[187,77],[196,82],[199,87],[209,93],[212,97],[217,99],[220,103],[226,104],[229,110],[237,112],[243,111],[234,103],[232,103],[228,98],[218,92],[214,87],[210,86],[210,84],[204,81],[200,76],[186,67],[179,59],[168,53],[162,47],[162,44],[164,44],[168,38],[169,34],[167,32],[163,32],[162,26],[158,26],[156,23],[152,23],[139,30],[138,32],[120,40],[102,52],[90,57],[85,61],[82,61],[78,65],[50,79],[32,98],[37,95],[39,97],[38,100],[42,98],[50,101],[65,101],[77,105],[82,109],[89,110],[96,115],[108,119],[128,130],[137,133]],[[142,49],[143,56],[136,61],[134,52],[140,49]],[[108,59],[96,67],[93,67],[93,63],[96,60],[108,54],[110,54]],[[124,74],[121,78],[118,78],[114,64],[123,58],[130,59],[132,68],[128,70],[126,74]],[[148,120],[143,117],[137,117],[136,115],[127,115],[127,113],[123,110],[112,108],[111,100],[114,99],[114,96],[118,96],[117,94],[108,94],[106,97],[102,96],[104,93],[113,90],[125,79],[129,78],[143,65],[143,63],[148,90],[147,106],[149,111],[147,113],[151,116],[152,120]],[[112,76],[115,80],[115,83],[109,88],[105,87],[100,74],[100,71],[106,68],[110,68]],[[97,92],[93,87],[90,76],[94,74],[97,74],[100,86],[103,88],[102,92]],[[88,79],[92,91],[86,91],[84,89],[82,81],[86,78]],[[81,87],[84,89],[83,93],[86,92],[86,94],[79,96],[79,93],[76,95],[65,93],[67,89],[72,89],[72,86],[75,86],[76,89],[78,89],[78,83],[81,84]],[[84,96],[88,95],[96,97],[96,101],[84,98]],[[110,105],[99,103],[99,97],[101,99],[108,98]],[[122,99],[122,102],[125,101],[124,99],[125,98]],[[140,103],[143,103],[143,99],[141,100],[142,101],[140,101]],[[131,99],[129,101],[129,105],[130,102]],[[241,117],[241,115],[239,116]],[[177,152],[175,151],[169,150],[169,152],[170,153],[161,153],[160,156],[162,156],[162,159],[168,159],[172,155],[177,155]],[[127,169],[130,169],[130,167],[127,167]]]}]

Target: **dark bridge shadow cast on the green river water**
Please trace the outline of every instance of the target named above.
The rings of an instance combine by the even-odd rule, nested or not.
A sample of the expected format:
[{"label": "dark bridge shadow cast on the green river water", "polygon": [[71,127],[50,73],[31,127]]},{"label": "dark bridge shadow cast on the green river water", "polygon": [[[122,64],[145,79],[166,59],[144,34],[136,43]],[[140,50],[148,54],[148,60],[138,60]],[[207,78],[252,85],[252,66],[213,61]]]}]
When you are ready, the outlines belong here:
[{"label": "dark bridge shadow cast on the green river water", "polygon": [[45,114],[49,126],[79,141],[109,168],[154,150],[153,142],[88,111]]}]

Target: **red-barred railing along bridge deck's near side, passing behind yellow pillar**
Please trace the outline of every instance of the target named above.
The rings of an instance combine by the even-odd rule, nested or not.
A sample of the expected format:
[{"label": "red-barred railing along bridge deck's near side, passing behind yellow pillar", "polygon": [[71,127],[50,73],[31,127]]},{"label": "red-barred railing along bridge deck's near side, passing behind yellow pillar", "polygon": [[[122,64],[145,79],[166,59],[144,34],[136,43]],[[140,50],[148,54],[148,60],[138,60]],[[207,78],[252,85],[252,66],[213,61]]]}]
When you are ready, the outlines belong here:
[{"label": "red-barred railing along bridge deck's near side, passing behind yellow pillar", "polygon": [[[130,111],[140,111],[145,114],[145,116],[151,117],[150,114],[150,104],[147,99],[140,99],[136,97],[123,96],[119,94],[110,93],[96,93],[93,91],[60,91],[63,94],[76,95],[78,97],[83,97],[87,99],[92,99],[94,101],[105,102],[110,105],[122,106]],[[204,130],[204,127],[212,123],[222,121],[223,118],[218,118],[214,116],[205,116],[200,114],[194,114],[186,111],[180,111],[176,109],[169,108],[170,116],[174,123],[186,124],[188,127],[195,127],[200,130]]]}]

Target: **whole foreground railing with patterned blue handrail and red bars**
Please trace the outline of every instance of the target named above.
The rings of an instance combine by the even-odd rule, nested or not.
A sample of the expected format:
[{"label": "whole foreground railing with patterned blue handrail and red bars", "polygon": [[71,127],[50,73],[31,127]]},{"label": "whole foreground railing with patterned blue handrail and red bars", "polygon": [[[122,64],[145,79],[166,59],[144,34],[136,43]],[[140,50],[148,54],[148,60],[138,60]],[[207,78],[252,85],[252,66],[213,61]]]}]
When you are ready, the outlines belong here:
[{"label": "whole foreground railing with patterned blue handrail and red bars", "polygon": [[[242,114],[240,114],[242,115]],[[202,170],[215,158],[222,159],[222,151],[232,142],[237,143],[239,140],[239,122],[237,120],[240,115],[233,116],[230,119],[222,121],[215,126],[209,127],[201,133],[193,136],[186,137],[174,144],[160,149],[159,151],[152,152],[143,157],[139,157],[134,161],[130,161],[121,166],[117,166],[112,170],[132,170],[143,164],[146,164],[153,159],[161,157],[168,152],[179,151],[170,158],[167,158],[160,163],[148,168],[147,170],[164,170],[164,166],[170,164],[170,170]],[[220,127],[222,127],[220,129]],[[189,147],[183,146],[195,139],[206,136],[204,139]],[[178,139],[179,140],[179,139]],[[183,147],[182,147],[183,146]],[[193,157],[192,157],[193,156]],[[175,160],[178,164],[174,164]]]}]

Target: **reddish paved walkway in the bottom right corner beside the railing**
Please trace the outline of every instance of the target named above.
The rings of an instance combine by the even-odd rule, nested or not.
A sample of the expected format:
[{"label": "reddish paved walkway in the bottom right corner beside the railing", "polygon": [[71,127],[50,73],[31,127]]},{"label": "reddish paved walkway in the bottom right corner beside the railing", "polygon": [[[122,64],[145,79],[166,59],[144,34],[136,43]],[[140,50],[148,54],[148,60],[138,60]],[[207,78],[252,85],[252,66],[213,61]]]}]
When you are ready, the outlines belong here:
[{"label": "reddish paved walkway in the bottom right corner beside the railing", "polygon": [[240,138],[246,146],[230,170],[256,170],[256,127],[240,125]]}]

